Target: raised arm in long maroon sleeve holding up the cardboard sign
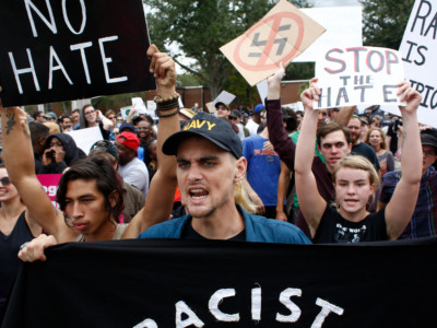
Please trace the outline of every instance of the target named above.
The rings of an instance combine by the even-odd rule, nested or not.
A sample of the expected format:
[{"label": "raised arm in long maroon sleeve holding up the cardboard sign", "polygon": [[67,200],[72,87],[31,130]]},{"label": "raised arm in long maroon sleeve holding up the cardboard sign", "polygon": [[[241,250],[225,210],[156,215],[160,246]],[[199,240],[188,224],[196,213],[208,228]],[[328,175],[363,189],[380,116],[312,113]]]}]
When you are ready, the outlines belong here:
[{"label": "raised arm in long maroon sleeve holding up the cardboard sign", "polygon": [[269,128],[269,140],[273,144],[274,151],[280,155],[281,161],[285,163],[290,171],[293,171],[296,145],[284,128],[283,114],[281,109],[281,80],[284,74],[285,71],[281,68],[267,81],[267,125]]}]

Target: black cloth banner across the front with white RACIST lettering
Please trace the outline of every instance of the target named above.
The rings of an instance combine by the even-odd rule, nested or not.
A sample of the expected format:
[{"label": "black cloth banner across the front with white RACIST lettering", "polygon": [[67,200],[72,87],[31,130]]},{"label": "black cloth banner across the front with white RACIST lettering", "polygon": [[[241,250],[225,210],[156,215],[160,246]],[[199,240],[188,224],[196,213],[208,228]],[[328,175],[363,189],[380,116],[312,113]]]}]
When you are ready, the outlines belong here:
[{"label": "black cloth banner across the front with white RACIST lettering", "polygon": [[24,265],[2,327],[436,327],[436,247],[63,244]]}]

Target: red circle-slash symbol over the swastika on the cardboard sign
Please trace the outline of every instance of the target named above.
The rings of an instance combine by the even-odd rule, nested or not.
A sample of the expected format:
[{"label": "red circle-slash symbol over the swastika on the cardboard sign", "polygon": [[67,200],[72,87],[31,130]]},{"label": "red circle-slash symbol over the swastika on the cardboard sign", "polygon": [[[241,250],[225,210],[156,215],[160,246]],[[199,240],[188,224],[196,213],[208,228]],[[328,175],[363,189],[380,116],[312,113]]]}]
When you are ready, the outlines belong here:
[{"label": "red circle-slash symbol over the swastika on the cardboard sign", "polygon": [[[272,51],[273,44],[275,43],[277,32],[280,31],[281,22],[284,19],[292,20],[295,22],[295,25],[293,28],[297,27],[297,30],[298,30],[296,42],[292,46],[292,49],[290,49],[290,52],[285,52],[285,55],[283,57],[281,57],[279,60],[276,60],[273,63],[267,63],[270,52]],[[256,32],[259,30],[259,27],[262,27],[262,25],[264,25],[264,24],[269,24],[270,21],[272,21],[270,35],[265,42],[265,45],[264,45],[262,51],[260,52],[259,60],[255,63],[246,62],[245,60],[241,59],[241,55],[247,54],[247,48],[245,48],[244,54],[241,54],[243,44],[245,42],[252,40],[252,39],[255,42],[255,38],[251,36],[256,35]],[[290,59],[292,59],[296,55],[297,49],[300,47],[303,38],[304,38],[304,21],[302,20],[300,16],[298,16],[295,13],[291,13],[291,12],[276,13],[276,14],[273,14],[273,15],[260,21],[258,24],[250,27],[250,30],[247,31],[243,35],[241,39],[238,42],[237,46],[235,47],[234,59],[237,62],[237,65],[239,65],[240,67],[243,67],[247,70],[250,70],[250,71],[271,70],[271,69],[277,68],[281,62],[284,63],[284,62],[288,61]],[[264,43],[262,43],[262,44],[264,44]]]}]

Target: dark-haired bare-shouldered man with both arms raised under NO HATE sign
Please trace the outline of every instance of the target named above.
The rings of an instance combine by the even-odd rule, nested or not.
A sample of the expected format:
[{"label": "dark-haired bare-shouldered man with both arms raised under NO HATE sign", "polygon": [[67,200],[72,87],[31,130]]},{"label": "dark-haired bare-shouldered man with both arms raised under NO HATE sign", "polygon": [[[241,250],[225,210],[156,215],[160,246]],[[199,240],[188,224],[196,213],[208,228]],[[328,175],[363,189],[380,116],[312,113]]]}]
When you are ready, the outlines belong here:
[{"label": "dark-haired bare-shouldered man with both arms raised under NO HATE sign", "polygon": [[[151,58],[151,72],[156,78],[157,94],[163,99],[174,97],[175,62],[154,45],[147,49],[147,56]],[[160,112],[160,168],[151,185],[145,207],[122,231],[117,222],[122,209],[122,191],[120,181],[108,163],[84,160],[73,165],[61,178],[58,192],[61,211],[57,211],[35,175],[27,124],[20,124],[23,112],[17,107],[1,110],[5,115],[2,120],[3,131],[7,131],[3,157],[11,167],[11,180],[22,192],[23,202],[32,216],[51,235],[34,239],[24,247],[20,251],[23,260],[44,260],[45,248],[57,243],[72,242],[78,236],[84,242],[133,238],[149,226],[169,218],[176,190],[176,161],[173,156],[162,154],[160,144],[179,130],[177,103]],[[21,156],[14,154],[17,148],[22,150]],[[101,177],[98,171],[105,177]]]}]

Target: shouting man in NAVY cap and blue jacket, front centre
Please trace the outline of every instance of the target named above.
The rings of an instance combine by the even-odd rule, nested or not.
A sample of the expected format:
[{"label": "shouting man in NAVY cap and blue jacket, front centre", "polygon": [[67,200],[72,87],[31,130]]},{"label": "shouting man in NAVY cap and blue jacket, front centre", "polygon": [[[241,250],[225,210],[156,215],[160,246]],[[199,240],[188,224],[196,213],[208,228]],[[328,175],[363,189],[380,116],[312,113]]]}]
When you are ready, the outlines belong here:
[{"label": "shouting man in NAVY cap and blue jacket, front centre", "polygon": [[164,142],[163,152],[176,156],[178,186],[189,214],[151,226],[140,238],[309,243],[296,226],[246,211],[255,212],[240,192],[247,162],[238,136],[225,120],[196,115]]}]

